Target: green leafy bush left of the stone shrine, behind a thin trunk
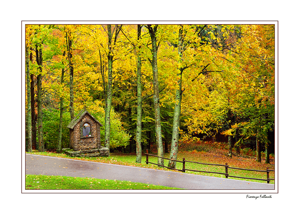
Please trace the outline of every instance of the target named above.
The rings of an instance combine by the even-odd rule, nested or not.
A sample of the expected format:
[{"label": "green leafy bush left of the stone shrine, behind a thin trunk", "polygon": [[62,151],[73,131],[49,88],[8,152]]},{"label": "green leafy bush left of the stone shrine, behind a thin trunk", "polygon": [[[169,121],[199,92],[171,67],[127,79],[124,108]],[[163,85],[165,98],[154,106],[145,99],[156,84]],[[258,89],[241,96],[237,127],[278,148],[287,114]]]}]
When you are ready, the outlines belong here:
[{"label": "green leafy bush left of the stone shrine, behind a thin trunk", "polygon": [[[67,128],[67,125],[70,123],[70,120],[70,113],[64,112],[62,115],[62,148],[67,148],[69,146],[69,129]],[[43,132],[44,143],[46,144],[47,149],[56,149],[59,133],[59,110],[43,109]]]}]

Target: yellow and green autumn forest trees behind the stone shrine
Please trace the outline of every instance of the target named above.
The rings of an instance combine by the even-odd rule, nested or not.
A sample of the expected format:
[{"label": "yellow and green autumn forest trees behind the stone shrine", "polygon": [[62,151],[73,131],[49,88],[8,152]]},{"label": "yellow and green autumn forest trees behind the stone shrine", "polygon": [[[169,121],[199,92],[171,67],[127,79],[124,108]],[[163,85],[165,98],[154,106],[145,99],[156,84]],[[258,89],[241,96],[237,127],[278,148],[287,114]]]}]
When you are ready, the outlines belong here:
[{"label": "yellow and green autumn forest trees behind the stone shrine", "polygon": [[275,25],[26,25],[25,36],[27,151],[61,152],[85,106],[103,145],[137,162],[151,142],[176,159],[181,142],[222,134],[229,156],[255,143],[259,162],[274,146]]}]

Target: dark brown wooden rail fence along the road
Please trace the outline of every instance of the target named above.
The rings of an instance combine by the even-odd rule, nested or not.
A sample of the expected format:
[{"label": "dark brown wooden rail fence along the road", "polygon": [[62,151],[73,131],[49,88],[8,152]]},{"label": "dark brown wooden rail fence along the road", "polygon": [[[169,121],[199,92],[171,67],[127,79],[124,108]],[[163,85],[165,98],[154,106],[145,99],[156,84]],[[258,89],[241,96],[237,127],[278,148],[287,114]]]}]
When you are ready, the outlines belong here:
[{"label": "dark brown wooden rail fence along the road", "polygon": [[[270,172],[270,171],[275,172],[275,170],[269,169],[268,167],[266,168],[266,170],[242,169],[242,168],[236,168],[236,167],[229,167],[229,165],[227,165],[227,163],[225,163],[225,164],[200,163],[200,162],[195,162],[195,161],[188,161],[188,160],[185,160],[185,158],[182,158],[182,161],[181,161],[181,160],[174,160],[174,159],[170,159],[170,158],[164,158],[164,157],[161,157],[161,156],[149,154],[149,153],[148,153],[148,149],[146,149],[145,155],[146,155],[146,164],[151,163],[151,164],[155,164],[155,165],[158,165],[158,166],[162,166],[162,167],[165,167],[165,168],[168,168],[168,169],[178,170],[178,171],[181,171],[181,172],[185,172],[185,171],[187,170],[187,171],[193,171],[193,172],[216,173],[216,174],[225,175],[226,178],[232,177],[232,178],[253,179],[253,180],[267,181],[268,184],[270,183],[270,180],[275,180],[274,178],[269,178],[269,172]],[[153,157],[158,157],[158,158],[163,158],[163,159],[167,159],[167,160],[172,160],[172,161],[180,162],[180,163],[182,163],[182,169],[170,168],[170,167],[168,167],[168,166],[163,166],[163,165],[160,165],[160,164],[158,164],[158,163],[152,163],[152,162],[149,162],[149,161],[148,161],[148,156],[153,156]],[[188,162],[188,163],[198,163],[198,164],[204,164],[204,165],[213,165],[213,166],[224,166],[224,167],[225,167],[225,173],[223,173],[223,172],[199,171],[199,170],[194,170],[194,169],[186,169],[186,168],[185,168],[185,162]],[[246,177],[232,176],[232,175],[229,175],[229,174],[228,174],[228,169],[239,169],[239,170],[247,170],[247,171],[255,171],[255,172],[266,172],[266,173],[267,173],[267,179],[261,179],[261,178],[246,178]]]}]

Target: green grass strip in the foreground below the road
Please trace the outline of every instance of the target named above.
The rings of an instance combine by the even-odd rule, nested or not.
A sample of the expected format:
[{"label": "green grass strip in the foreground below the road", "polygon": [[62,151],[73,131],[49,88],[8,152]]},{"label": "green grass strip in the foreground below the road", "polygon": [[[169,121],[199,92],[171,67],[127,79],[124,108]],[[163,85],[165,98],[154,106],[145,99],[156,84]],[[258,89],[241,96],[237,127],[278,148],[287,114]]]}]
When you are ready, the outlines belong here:
[{"label": "green grass strip in the foreground below the road", "polygon": [[131,181],[67,176],[26,175],[26,189],[179,189]]}]

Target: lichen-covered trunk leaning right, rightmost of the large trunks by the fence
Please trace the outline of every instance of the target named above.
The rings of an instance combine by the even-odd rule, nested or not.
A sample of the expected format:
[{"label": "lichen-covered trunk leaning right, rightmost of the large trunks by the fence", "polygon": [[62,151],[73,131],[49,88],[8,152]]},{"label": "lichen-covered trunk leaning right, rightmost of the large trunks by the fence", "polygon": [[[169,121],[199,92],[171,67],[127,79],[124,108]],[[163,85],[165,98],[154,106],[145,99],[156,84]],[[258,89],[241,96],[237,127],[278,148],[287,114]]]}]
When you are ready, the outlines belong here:
[{"label": "lichen-covered trunk leaning right, rightmost of the large trunks by the fence", "polygon": [[[181,25],[179,29],[178,36],[178,54],[180,57],[180,61],[182,58],[182,37],[183,25]],[[180,79],[177,81],[178,88],[176,89],[176,103],[174,107],[174,116],[173,116],[173,131],[172,131],[172,142],[171,142],[171,151],[170,151],[170,159],[177,160],[178,154],[178,141],[179,141],[179,118],[181,113],[181,100],[182,100],[182,72],[183,69],[180,69]],[[176,168],[176,161],[169,160],[168,167]]]}]

